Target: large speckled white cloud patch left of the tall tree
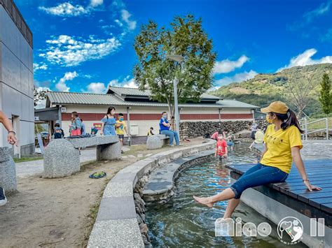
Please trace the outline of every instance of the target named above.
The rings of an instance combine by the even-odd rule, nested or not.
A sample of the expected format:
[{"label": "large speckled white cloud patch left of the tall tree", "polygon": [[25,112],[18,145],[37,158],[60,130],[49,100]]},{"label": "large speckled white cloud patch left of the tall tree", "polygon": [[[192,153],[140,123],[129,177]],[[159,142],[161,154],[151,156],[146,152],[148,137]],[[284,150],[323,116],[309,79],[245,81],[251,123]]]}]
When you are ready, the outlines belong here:
[{"label": "large speckled white cloud patch left of the tall tree", "polygon": [[50,63],[64,66],[78,66],[84,61],[102,59],[115,52],[121,45],[115,37],[96,39],[95,36],[89,36],[85,40],[67,35],[58,36],[46,43],[48,43],[46,52],[39,56],[46,58]]}]

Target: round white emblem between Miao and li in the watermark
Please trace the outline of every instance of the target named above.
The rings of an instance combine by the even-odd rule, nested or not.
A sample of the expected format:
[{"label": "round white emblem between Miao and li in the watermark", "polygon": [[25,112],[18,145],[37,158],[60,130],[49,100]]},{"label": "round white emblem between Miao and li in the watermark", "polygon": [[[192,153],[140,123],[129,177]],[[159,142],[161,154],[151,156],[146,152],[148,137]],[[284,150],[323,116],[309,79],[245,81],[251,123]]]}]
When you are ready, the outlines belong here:
[{"label": "round white emblem between Miao and li in the watermark", "polygon": [[277,226],[279,240],[285,245],[295,245],[302,240],[303,224],[296,217],[285,217]]}]

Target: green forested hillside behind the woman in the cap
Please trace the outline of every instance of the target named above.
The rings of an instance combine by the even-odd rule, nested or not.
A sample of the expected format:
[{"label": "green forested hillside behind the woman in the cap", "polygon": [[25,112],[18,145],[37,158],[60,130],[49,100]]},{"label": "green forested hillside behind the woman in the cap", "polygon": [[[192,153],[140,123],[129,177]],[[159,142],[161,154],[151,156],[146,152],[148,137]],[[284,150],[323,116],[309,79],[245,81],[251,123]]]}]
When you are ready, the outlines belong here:
[{"label": "green forested hillside behind the woman in the cap", "polygon": [[[310,116],[321,116],[324,114],[321,104],[319,103],[319,91],[321,86],[321,75],[327,73],[332,77],[332,64],[315,64],[310,66],[295,66],[287,68],[278,73],[260,73],[254,78],[243,82],[232,82],[229,85],[220,87],[214,92],[209,92],[222,99],[236,99],[245,103],[264,107],[272,101],[284,101],[290,108],[298,111],[293,99],[289,97],[288,77],[310,77],[310,82],[314,89],[308,94],[307,105],[304,112]],[[240,89],[248,89],[244,93]]]}]

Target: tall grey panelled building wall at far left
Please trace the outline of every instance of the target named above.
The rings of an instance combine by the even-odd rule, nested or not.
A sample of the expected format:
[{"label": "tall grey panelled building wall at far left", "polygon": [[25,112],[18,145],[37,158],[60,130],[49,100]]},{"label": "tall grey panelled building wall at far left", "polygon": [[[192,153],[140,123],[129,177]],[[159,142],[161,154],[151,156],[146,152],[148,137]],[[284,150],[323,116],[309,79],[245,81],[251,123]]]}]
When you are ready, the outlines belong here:
[{"label": "tall grey panelled building wall at far left", "polygon": [[7,131],[1,126],[0,147],[9,146],[22,155],[34,152],[32,56],[32,47],[0,5],[0,108],[14,120],[19,140],[19,147],[14,149],[6,142]]}]

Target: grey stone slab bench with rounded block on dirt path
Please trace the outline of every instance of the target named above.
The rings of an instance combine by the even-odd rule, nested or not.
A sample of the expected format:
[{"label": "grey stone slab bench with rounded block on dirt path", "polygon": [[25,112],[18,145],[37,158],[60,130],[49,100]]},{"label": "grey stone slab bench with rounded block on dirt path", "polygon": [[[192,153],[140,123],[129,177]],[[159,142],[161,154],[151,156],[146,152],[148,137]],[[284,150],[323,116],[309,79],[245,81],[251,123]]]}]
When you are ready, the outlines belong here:
[{"label": "grey stone slab bench with rounded block on dirt path", "polygon": [[55,139],[45,148],[43,177],[65,177],[80,170],[79,147],[97,145],[97,160],[121,158],[118,136]]}]

